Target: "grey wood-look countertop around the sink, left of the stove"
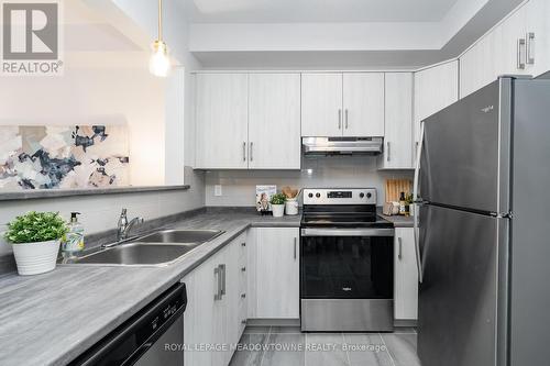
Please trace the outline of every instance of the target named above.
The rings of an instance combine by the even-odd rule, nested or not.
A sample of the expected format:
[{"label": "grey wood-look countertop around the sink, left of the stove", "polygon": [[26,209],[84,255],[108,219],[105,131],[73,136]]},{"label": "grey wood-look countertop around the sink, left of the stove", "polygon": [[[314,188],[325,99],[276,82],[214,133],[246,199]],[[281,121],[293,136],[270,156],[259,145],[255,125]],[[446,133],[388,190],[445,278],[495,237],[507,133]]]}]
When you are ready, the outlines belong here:
[{"label": "grey wood-look countertop around the sink, left of the stove", "polygon": [[206,212],[170,224],[223,230],[167,267],[58,266],[0,277],[0,365],[65,365],[250,226],[298,228],[300,215]]}]

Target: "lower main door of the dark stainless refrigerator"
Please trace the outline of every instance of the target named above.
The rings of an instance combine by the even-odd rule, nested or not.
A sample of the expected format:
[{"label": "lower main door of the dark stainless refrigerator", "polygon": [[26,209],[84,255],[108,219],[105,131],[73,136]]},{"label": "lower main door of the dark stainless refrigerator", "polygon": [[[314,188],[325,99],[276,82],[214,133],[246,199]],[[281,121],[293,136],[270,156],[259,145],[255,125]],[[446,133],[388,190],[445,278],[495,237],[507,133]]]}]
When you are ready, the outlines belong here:
[{"label": "lower main door of the dark stainless refrigerator", "polygon": [[[418,309],[422,366],[499,366],[506,336],[497,303],[506,300],[499,276],[507,221],[452,209],[420,208],[424,281]],[[501,247],[499,247],[501,246]],[[506,271],[506,266],[503,267]],[[502,284],[499,284],[502,282]],[[501,295],[501,296],[499,296]],[[503,315],[505,312],[503,312]],[[497,324],[498,323],[498,324]],[[498,332],[497,332],[498,330]]]}]

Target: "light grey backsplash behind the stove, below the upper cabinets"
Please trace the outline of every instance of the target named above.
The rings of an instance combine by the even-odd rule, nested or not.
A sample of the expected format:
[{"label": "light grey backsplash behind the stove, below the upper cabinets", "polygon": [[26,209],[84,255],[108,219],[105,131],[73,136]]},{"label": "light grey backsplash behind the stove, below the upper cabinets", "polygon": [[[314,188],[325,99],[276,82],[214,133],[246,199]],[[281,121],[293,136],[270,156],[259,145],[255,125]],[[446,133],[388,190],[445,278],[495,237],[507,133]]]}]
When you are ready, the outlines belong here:
[{"label": "light grey backsplash behind the stove, below the upper cabinets", "polygon": [[[307,187],[374,187],[384,202],[385,179],[413,179],[411,170],[377,170],[370,156],[305,157],[301,170],[211,170],[206,174],[207,206],[254,206],[256,185]],[[215,196],[221,185],[222,196]]]}]

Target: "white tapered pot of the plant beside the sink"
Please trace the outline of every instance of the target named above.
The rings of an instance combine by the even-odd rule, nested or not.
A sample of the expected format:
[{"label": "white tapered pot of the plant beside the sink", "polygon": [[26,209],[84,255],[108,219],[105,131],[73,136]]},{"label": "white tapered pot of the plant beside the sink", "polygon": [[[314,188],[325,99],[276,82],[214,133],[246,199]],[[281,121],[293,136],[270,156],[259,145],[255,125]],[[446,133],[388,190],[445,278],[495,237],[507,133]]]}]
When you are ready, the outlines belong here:
[{"label": "white tapered pot of the plant beside the sink", "polygon": [[55,268],[59,240],[12,244],[13,255],[21,276],[38,275]]}]

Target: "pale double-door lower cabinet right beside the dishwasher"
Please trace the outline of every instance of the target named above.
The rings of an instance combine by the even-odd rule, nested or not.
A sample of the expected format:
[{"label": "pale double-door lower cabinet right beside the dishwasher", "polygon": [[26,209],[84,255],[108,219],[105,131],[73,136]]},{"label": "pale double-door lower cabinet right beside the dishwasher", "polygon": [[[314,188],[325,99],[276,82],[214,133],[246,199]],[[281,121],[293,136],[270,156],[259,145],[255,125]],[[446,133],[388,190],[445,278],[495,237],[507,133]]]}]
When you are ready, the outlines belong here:
[{"label": "pale double-door lower cabinet right beside the dishwasher", "polygon": [[245,234],[239,236],[184,278],[188,298],[184,337],[190,348],[186,366],[226,366],[231,361],[231,345],[244,330],[244,240]]}]

